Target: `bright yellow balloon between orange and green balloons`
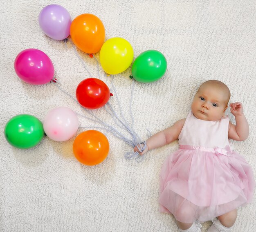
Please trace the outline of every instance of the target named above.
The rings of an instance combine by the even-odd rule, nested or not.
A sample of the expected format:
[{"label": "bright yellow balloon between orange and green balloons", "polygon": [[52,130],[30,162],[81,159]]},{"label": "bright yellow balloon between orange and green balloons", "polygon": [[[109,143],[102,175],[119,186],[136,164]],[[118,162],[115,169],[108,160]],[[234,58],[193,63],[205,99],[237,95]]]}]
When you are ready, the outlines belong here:
[{"label": "bright yellow balloon between orange and green balloons", "polygon": [[111,38],[102,45],[99,59],[106,73],[119,74],[128,69],[132,63],[132,45],[123,38]]}]

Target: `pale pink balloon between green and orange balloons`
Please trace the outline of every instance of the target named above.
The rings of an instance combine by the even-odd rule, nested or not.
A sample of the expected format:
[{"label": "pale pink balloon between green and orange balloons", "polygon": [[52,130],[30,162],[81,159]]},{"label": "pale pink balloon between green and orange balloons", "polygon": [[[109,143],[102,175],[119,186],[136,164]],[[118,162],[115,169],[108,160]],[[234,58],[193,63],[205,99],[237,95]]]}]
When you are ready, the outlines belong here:
[{"label": "pale pink balloon between green and orange balloons", "polygon": [[72,138],[78,129],[78,117],[68,107],[52,109],[43,122],[45,134],[54,141],[67,141]]}]

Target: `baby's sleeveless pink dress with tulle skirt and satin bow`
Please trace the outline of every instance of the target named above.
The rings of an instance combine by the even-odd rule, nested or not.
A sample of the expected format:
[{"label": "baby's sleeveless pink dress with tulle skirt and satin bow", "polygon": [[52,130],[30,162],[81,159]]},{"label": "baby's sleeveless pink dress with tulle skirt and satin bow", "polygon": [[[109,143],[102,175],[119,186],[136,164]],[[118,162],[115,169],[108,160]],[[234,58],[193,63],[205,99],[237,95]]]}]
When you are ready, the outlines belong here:
[{"label": "baby's sleeveless pink dress with tulle skirt and satin bow", "polygon": [[231,150],[228,127],[228,117],[213,122],[189,113],[180,149],[168,156],[160,172],[160,212],[183,223],[204,222],[252,201],[252,169]]}]

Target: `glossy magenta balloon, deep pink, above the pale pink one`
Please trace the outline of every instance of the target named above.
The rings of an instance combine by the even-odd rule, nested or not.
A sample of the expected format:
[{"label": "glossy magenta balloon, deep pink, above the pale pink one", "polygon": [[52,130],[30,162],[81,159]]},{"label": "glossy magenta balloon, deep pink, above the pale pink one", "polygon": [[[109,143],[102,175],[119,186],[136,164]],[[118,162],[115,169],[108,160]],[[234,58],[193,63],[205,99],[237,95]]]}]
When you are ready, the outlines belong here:
[{"label": "glossy magenta balloon, deep pink, above the pale pink one", "polygon": [[21,80],[32,85],[48,83],[54,76],[52,60],[34,48],[25,49],[16,56],[14,69]]}]

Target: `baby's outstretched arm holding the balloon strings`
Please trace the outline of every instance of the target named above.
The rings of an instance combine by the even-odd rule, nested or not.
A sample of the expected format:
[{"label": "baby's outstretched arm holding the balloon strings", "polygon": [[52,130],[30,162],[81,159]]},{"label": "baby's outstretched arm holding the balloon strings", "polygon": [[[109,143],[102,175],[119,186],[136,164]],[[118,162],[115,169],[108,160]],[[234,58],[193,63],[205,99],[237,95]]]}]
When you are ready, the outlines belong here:
[{"label": "baby's outstretched arm holding the balloon strings", "polygon": [[[154,134],[150,138],[148,138],[148,140],[146,141],[146,144],[147,144],[146,149],[139,154],[143,155],[148,150],[152,150],[157,147],[162,147],[162,146],[178,139],[181,129],[185,123],[185,120],[186,120],[185,118],[178,120],[171,127],[168,127],[167,129],[164,129],[164,130],[158,132],[157,134]],[[138,152],[137,146],[135,146],[134,151]]]}]

